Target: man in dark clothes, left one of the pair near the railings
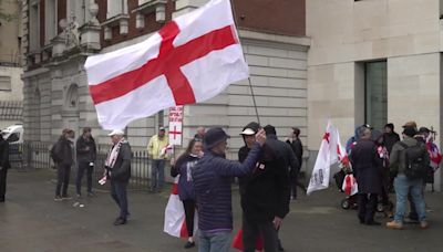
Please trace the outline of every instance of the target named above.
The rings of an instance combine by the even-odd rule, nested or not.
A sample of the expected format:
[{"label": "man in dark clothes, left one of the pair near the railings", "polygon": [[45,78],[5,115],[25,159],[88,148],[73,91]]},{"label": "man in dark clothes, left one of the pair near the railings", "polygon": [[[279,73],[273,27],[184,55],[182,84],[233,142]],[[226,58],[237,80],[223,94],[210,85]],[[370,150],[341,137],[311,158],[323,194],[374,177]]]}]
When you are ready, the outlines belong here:
[{"label": "man in dark clothes, left one of the pair near the railings", "polygon": [[53,151],[51,150],[51,156],[56,167],[55,201],[71,199],[71,197],[68,196],[68,186],[71,175],[71,166],[74,164],[74,130],[70,128],[63,129],[62,135],[53,147]]}]

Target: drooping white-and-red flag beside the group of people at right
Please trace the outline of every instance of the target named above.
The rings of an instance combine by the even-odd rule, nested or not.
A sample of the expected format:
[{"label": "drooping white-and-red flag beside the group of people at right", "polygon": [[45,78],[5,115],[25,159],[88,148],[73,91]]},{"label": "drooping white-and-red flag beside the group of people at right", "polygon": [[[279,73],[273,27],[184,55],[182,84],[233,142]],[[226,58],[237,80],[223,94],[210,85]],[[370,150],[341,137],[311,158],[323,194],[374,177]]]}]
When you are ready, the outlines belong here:
[{"label": "drooping white-and-red flag beside the group of people at right", "polygon": [[326,133],[321,140],[320,149],[312,169],[307,193],[326,189],[329,187],[329,175],[331,165],[341,162],[349,166],[349,159],[346,149],[341,145],[338,129],[328,120]]}]

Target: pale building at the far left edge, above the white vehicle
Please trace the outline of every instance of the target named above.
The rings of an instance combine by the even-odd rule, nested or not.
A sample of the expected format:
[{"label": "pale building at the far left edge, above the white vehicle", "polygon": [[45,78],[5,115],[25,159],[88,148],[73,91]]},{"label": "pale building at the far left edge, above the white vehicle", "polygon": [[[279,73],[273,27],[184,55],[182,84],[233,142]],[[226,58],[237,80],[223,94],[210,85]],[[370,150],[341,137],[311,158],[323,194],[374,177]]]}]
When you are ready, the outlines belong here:
[{"label": "pale building at the far left edge, above the white vehicle", "polygon": [[21,1],[0,1],[0,129],[22,122]]}]

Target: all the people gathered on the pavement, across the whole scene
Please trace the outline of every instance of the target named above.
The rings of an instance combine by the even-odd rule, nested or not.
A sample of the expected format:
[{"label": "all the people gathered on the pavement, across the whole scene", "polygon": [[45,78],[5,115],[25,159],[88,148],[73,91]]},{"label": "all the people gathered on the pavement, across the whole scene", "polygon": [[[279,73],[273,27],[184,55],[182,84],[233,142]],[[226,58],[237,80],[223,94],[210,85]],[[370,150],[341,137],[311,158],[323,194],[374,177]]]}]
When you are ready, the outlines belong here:
[{"label": "all the people gathered on the pavement, across the whole scene", "polygon": [[[115,225],[127,221],[126,188],[131,178],[131,146],[123,130],[109,134],[111,148],[104,162],[104,180],[111,182],[111,196],[120,212]],[[231,183],[238,178],[241,220],[241,250],[256,251],[260,241],[265,251],[284,251],[278,231],[289,212],[290,200],[297,199],[298,174],[302,164],[303,148],[300,129],[292,128],[290,136],[279,140],[271,125],[247,124],[239,133],[244,146],[238,150],[238,161],[226,159],[227,140],[230,138],[219,127],[205,130],[199,127],[177,159],[171,159],[171,176],[178,177],[178,197],[183,201],[188,240],[185,249],[194,248],[195,213],[198,214],[198,250],[200,252],[228,251],[233,231]],[[415,122],[403,125],[402,137],[393,124],[383,132],[369,125],[356,128],[347,141],[352,174],[358,182],[358,220],[361,224],[379,225],[375,209],[379,201],[384,206],[389,229],[403,229],[404,221],[416,221],[422,229],[426,220],[424,186],[433,181],[433,172],[441,161],[439,148],[433,143],[435,133],[426,127],[418,128]],[[82,179],[86,174],[86,196],[94,197],[92,174],[97,149],[89,127],[74,144],[72,129],[63,129],[51,149],[56,168],[55,201],[70,199],[68,186],[71,167],[78,164],[75,178],[76,197],[82,197]],[[164,127],[158,128],[147,145],[152,161],[151,191],[164,187],[164,169],[171,158],[165,149],[168,137]],[[74,155],[75,153],[75,155]],[[6,176],[9,168],[8,143],[0,137],[0,202],[4,201]],[[74,160],[74,158],[76,160]],[[4,182],[3,182],[4,181]],[[390,207],[390,191],[395,192],[395,207]],[[406,203],[410,213],[406,217]],[[394,211],[393,211],[394,210]]]}]

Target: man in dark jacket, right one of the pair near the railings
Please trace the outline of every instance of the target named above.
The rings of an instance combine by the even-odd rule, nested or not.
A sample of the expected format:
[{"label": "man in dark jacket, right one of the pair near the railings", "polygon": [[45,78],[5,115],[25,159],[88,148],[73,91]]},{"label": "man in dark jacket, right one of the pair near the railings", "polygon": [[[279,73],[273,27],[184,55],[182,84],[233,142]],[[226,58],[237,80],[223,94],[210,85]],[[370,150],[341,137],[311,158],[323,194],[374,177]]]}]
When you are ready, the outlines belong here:
[{"label": "man in dark jacket, right one of the pair near the railings", "polygon": [[87,197],[94,196],[92,192],[92,172],[94,170],[94,161],[96,158],[96,147],[95,140],[91,135],[91,128],[83,128],[83,134],[76,140],[76,160],[79,165],[79,170],[76,172],[76,197],[81,197],[81,186],[83,174],[86,170],[87,174]]}]

